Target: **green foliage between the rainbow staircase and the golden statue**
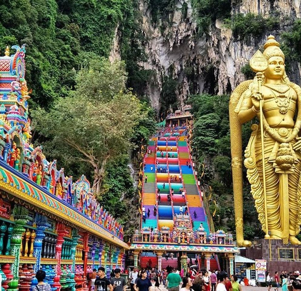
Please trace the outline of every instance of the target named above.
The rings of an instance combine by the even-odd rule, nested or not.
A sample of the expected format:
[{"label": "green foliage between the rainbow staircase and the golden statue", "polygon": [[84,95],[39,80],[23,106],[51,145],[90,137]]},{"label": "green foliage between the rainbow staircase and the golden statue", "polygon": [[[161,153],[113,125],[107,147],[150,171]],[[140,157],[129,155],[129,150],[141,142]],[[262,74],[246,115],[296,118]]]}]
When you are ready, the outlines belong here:
[{"label": "green foliage between the rainbow staircase and the golden statue", "polygon": [[[213,217],[215,228],[226,227],[235,232],[233,218],[234,205],[232,196],[232,172],[229,132],[229,95],[192,95],[188,102],[192,105],[194,116],[192,150],[197,166],[201,186],[209,202],[210,213],[216,210]],[[250,123],[242,126],[243,149],[250,137]],[[244,219],[251,227],[246,229],[246,236],[262,236],[257,221],[257,213],[250,194],[249,183],[244,176]],[[213,201],[216,202],[213,203]],[[219,218],[218,218],[219,215]],[[258,224],[258,225],[257,225]]]}]

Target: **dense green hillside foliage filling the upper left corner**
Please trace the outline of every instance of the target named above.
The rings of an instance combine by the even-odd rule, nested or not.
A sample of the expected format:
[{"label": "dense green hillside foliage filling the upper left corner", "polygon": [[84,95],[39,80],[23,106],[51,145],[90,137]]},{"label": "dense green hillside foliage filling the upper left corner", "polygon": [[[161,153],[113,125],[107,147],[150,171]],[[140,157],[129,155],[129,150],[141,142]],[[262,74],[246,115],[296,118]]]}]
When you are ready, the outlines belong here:
[{"label": "dense green hillside foliage filling the upper left corner", "polygon": [[75,70],[86,52],[108,56],[129,0],[3,0],[0,49],[27,44],[30,107],[49,105],[74,89]]}]

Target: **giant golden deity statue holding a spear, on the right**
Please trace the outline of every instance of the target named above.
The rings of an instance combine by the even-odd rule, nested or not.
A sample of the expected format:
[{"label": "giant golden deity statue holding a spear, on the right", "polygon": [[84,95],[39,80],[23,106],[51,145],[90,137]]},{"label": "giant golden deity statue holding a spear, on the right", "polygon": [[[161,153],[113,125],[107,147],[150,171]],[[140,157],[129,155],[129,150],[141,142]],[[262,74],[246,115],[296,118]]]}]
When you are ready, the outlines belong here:
[{"label": "giant golden deity statue holding a spear, on the right", "polygon": [[244,164],[259,221],[265,238],[300,245],[301,89],[287,78],[284,54],[272,35],[250,66],[256,77],[238,85],[229,103],[237,243],[251,245],[243,239],[241,125],[257,116],[260,126],[252,125]]}]

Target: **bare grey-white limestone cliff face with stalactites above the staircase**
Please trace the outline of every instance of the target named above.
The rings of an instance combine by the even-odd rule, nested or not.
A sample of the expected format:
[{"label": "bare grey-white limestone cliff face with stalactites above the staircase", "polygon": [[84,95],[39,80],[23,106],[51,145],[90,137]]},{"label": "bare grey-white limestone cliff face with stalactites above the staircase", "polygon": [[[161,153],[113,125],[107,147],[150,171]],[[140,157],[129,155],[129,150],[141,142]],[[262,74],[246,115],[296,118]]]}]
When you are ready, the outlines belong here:
[{"label": "bare grey-white limestone cliff face with stalactites above the staircase", "polygon": [[[176,0],[175,8],[169,14],[169,24],[162,29],[159,19],[153,23],[149,2],[139,0],[142,15],[142,31],[147,41],[144,44],[147,61],[141,65],[154,72],[147,85],[146,95],[152,106],[159,112],[163,78],[166,75],[177,80],[176,95],[183,105],[189,94],[208,92],[211,94],[230,93],[239,82],[245,80],[241,68],[246,65],[269,34],[281,42],[280,33],[288,30],[295,18],[300,18],[300,0],[242,0],[232,5],[232,14],[252,12],[263,17],[271,14],[280,18],[279,29],[266,31],[264,35],[249,37],[245,41],[234,38],[232,30],[226,28],[222,19],[216,20],[206,35],[199,35],[190,0]],[[187,5],[183,15],[182,6]],[[115,48],[115,49],[114,49]],[[113,54],[118,51],[116,39]],[[118,55],[118,54],[117,54]],[[291,81],[300,83],[300,66],[291,64]]]}]

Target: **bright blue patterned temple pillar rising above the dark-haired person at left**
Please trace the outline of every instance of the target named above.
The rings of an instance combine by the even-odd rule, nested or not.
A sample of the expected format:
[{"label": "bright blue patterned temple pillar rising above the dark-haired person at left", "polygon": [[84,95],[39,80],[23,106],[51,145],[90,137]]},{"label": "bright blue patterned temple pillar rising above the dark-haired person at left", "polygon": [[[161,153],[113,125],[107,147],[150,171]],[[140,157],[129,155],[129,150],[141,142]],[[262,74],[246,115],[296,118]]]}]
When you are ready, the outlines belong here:
[{"label": "bright blue patterned temple pillar rising above the dark-haired person at left", "polygon": [[37,273],[41,266],[41,253],[42,253],[42,242],[45,237],[45,229],[50,226],[47,217],[36,214],[35,222],[37,229],[35,231],[36,237],[33,242],[33,256],[37,259],[33,267],[33,273]]}]

